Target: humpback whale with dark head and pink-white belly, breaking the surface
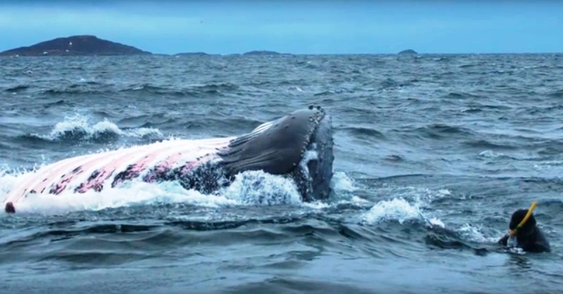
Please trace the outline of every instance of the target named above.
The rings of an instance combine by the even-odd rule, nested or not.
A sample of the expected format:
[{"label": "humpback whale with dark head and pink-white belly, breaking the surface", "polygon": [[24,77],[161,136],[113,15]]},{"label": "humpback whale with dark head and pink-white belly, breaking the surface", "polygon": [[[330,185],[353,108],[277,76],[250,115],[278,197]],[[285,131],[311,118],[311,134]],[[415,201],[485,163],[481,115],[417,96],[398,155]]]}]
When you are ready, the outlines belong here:
[{"label": "humpback whale with dark head and pink-white belly, breaking the surface", "polygon": [[309,106],[240,136],[170,139],[66,158],[19,179],[4,196],[4,210],[13,213],[37,194],[99,192],[134,179],[179,181],[186,189],[213,193],[251,170],[291,178],[303,201],[325,200],[333,174],[332,132],[324,109]]}]

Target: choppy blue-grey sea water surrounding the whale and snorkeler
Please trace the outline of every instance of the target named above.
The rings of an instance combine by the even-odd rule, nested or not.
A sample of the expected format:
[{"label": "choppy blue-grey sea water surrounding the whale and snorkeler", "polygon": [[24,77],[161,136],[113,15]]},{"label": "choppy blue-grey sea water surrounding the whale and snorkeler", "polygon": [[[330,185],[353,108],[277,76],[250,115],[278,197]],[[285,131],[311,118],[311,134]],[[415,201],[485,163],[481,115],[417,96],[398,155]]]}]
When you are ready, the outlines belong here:
[{"label": "choppy blue-grey sea water surrounding the whale and snorkeler", "polygon": [[[562,77],[561,54],[1,58],[0,196],[49,162],[313,103],[336,159],[315,203],[266,177],[2,212],[0,293],[560,293]],[[535,200],[552,252],[496,244]]]}]

